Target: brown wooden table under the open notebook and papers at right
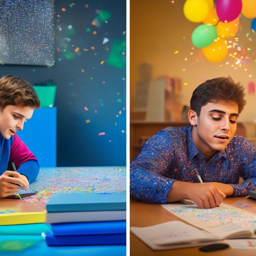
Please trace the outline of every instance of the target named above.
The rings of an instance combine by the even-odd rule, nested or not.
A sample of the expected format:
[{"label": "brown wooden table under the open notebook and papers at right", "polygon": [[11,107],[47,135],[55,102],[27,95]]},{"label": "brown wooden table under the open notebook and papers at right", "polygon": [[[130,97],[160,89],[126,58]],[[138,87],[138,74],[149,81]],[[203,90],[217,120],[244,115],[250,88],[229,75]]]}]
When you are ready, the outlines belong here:
[{"label": "brown wooden table under the open notebook and papers at right", "polygon": [[[254,199],[249,199],[246,197],[228,197],[223,199],[223,203],[256,213],[256,200]],[[245,208],[237,203],[251,207]],[[161,204],[146,204],[133,199],[130,200],[130,226],[146,227],[170,220],[181,219],[166,210],[161,206]],[[134,234],[130,233],[130,256],[205,256],[207,253],[199,251],[199,247],[200,246],[184,249],[153,251],[136,236],[134,236]],[[255,256],[256,250],[235,250],[228,248],[225,250],[210,252],[208,255],[209,254],[211,256]]]}]

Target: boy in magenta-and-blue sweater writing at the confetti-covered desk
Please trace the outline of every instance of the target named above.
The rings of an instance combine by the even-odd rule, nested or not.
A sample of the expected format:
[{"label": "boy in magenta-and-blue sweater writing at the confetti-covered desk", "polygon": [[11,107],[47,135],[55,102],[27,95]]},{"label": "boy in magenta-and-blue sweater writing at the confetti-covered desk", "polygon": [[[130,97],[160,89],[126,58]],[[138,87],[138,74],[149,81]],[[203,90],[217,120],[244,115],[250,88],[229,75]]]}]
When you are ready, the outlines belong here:
[{"label": "boy in magenta-and-blue sweater writing at the confetti-covered desk", "polygon": [[[0,79],[0,198],[27,188],[39,173],[37,158],[29,151],[16,132],[40,107],[32,85],[21,77],[5,75]],[[32,136],[32,134],[31,134]],[[9,161],[17,171],[8,171]]]}]

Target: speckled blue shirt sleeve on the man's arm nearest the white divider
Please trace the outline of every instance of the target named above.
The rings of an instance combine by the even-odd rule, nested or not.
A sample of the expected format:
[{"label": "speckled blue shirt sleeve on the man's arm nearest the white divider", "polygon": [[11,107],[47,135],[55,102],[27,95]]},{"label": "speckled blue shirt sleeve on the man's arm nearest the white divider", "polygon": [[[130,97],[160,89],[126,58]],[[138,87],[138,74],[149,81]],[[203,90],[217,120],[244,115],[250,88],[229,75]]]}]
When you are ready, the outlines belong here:
[{"label": "speckled blue shirt sleeve on the man's arm nearest the white divider", "polygon": [[167,203],[174,179],[164,176],[171,162],[172,142],[167,132],[160,131],[142,147],[130,165],[130,196],[146,203]]}]

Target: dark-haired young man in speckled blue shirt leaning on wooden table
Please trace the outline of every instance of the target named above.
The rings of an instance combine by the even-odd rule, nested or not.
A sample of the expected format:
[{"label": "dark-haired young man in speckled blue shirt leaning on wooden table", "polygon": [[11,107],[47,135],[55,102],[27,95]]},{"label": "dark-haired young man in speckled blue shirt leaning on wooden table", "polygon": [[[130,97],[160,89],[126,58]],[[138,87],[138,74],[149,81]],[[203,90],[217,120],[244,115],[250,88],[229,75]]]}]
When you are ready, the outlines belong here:
[{"label": "dark-haired young man in speckled blue shirt leaning on wooden table", "polygon": [[233,137],[245,104],[243,85],[230,76],[199,85],[190,101],[190,125],[158,132],[132,161],[131,198],[162,204],[189,199],[213,208],[222,201],[220,191],[245,196],[256,190],[256,147]]}]

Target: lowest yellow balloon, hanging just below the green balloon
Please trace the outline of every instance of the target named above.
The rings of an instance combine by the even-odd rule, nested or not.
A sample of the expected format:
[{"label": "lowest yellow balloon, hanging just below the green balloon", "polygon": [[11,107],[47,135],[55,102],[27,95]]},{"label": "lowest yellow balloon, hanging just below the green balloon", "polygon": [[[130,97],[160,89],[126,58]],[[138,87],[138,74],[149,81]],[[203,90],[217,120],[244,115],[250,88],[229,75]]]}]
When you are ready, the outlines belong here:
[{"label": "lowest yellow balloon, hanging just below the green balloon", "polygon": [[203,53],[208,61],[219,62],[224,60],[228,54],[226,40],[223,38],[214,40],[211,45],[203,48]]}]

